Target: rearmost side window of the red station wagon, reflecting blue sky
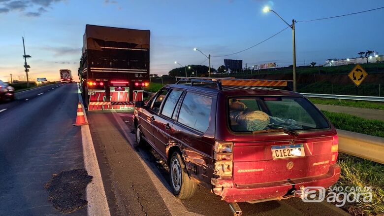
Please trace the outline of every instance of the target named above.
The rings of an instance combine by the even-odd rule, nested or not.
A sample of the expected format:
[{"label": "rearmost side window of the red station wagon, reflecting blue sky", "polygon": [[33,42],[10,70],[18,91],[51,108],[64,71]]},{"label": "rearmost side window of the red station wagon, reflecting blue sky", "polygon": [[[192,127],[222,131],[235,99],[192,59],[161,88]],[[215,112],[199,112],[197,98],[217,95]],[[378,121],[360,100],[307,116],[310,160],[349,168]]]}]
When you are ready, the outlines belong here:
[{"label": "rearmost side window of the red station wagon, reflecting blue sky", "polygon": [[180,108],[178,122],[204,133],[211,119],[212,98],[188,92]]}]

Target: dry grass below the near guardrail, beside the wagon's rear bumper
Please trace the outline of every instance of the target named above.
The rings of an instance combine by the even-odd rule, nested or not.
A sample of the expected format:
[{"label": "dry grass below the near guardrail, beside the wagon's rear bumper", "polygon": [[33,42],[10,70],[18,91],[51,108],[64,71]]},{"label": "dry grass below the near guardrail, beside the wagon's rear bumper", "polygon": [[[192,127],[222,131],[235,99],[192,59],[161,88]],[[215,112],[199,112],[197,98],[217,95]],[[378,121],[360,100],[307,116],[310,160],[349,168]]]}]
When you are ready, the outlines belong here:
[{"label": "dry grass below the near guardrail, beside the wagon's rear bumper", "polygon": [[384,165],[339,153],[341,176],[335,186],[372,187],[372,203],[346,203],[352,215],[384,215]]}]

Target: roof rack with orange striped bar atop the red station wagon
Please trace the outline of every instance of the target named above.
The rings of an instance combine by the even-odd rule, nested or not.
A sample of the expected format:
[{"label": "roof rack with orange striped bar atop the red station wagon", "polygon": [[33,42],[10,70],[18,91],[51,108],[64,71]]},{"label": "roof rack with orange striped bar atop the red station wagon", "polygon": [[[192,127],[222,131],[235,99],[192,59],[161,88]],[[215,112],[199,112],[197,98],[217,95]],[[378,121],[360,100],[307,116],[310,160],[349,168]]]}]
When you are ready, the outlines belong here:
[{"label": "roof rack with orange striped bar atop the red station wagon", "polygon": [[292,80],[270,80],[270,79],[235,79],[234,77],[183,77],[180,78],[176,84],[180,82],[190,82],[192,86],[194,83],[215,83],[218,90],[223,90],[222,86],[257,86],[257,87],[286,87],[291,90],[288,86],[288,82]]}]

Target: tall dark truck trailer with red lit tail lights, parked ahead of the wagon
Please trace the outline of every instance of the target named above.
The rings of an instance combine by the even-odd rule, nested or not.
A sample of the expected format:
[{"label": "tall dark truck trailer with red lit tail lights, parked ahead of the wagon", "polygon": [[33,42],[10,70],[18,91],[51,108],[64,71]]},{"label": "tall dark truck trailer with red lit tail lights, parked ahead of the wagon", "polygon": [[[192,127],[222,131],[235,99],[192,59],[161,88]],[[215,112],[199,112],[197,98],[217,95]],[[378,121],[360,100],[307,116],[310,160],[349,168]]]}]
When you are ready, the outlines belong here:
[{"label": "tall dark truck trailer with red lit tail lights, parked ahead of the wagon", "polygon": [[80,90],[88,110],[131,109],[149,85],[150,31],[86,25]]}]

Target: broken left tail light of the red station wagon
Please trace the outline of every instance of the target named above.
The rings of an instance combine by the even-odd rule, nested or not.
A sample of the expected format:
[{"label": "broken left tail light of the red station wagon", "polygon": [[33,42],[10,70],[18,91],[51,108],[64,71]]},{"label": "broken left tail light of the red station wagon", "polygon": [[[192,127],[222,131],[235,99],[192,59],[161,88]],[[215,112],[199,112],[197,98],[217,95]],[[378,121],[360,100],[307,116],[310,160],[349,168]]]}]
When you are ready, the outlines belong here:
[{"label": "broken left tail light of the red station wagon", "polygon": [[232,142],[215,142],[214,159],[215,171],[214,174],[219,176],[232,176]]}]

